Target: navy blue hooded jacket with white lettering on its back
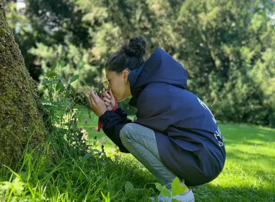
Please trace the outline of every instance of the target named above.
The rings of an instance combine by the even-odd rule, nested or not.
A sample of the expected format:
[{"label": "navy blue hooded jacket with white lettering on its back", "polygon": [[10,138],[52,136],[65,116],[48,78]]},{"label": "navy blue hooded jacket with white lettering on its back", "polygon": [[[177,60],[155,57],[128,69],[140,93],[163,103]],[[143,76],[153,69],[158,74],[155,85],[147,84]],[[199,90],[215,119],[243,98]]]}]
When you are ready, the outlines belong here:
[{"label": "navy blue hooded jacket with white lettering on its back", "polygon": [[[187,186],[214,180],[222,171],[226,152],[224,141],[209,108],[187,89],[187,74],[166,51],[157,49],[143,65],[128,76],[137,108],[136,124],[155,131],[164,165]],[[104,133],[120,148],[119,131],[132,122],[118,108],[100,117]]]}]

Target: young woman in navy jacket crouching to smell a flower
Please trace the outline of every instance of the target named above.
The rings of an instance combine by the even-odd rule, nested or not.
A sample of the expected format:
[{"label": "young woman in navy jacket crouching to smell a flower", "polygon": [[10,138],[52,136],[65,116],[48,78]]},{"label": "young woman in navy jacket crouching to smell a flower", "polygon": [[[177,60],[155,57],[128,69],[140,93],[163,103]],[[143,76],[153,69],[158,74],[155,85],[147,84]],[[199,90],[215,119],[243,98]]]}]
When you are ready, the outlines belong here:
[{"label": "young woman in navy jacket crouching to smell a flower", "polygon": [[[160,48],[144,61],[145,48],[143,37],[133,37],[108,59],[110,94],[104,92],[103,101],[91,92],[90,108],[120,151],[132,153],[168,189],[176,176],[187,187],[208,183],[226,159],[219,126],[205,103],[187,90],[182,65]],[[134,122],[121,108],[113,109],[116,100],[126,98],[137,108]],[[175,199],[195,201],[189,188]]]}]

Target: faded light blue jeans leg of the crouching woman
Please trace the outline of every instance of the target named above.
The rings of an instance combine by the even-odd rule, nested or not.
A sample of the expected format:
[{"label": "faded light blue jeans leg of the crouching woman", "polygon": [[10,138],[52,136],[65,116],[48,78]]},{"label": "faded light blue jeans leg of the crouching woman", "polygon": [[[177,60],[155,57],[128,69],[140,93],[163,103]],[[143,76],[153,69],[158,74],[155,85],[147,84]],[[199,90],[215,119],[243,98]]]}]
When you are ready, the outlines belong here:
[{"label": "faded light blue jeans leg of the crouching woman", "polygon": [[157,149],[155,132],[145,126],[129,123],[120,130],[120,139],[126,149],[141,162],[159,182],[171,188],[175,174],[162,163]]}]

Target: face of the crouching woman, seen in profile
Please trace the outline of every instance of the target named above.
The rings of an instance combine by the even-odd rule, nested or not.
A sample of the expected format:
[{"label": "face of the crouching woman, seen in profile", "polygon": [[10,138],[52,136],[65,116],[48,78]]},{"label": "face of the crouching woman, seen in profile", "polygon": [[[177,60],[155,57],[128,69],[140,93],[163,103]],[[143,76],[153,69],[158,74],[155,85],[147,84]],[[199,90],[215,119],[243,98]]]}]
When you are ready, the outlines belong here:
[{"label": "face of the crouching woman, seen in profile", "polygon": [[111,88],[113,95],[116,97],[118,102],[131,97],[128,74],[128,70],[123,70],[120,74],[116,73],[115,71],[106,71],[106,78],[109,82],[109,87]]}]

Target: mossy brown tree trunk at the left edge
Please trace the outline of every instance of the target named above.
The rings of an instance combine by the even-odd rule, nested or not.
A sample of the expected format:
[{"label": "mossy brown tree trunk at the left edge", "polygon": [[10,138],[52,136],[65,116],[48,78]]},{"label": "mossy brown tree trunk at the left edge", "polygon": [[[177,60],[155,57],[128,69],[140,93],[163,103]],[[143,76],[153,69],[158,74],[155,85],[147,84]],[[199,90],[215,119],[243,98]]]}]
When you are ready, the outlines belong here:
[{"label": "mossy brown tree trunk at the left edge", "polygon": [[0,3],[0,165],[16,162],[26,146],[43,150],[45,128],[38,101],[36,85]]}]

